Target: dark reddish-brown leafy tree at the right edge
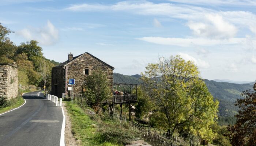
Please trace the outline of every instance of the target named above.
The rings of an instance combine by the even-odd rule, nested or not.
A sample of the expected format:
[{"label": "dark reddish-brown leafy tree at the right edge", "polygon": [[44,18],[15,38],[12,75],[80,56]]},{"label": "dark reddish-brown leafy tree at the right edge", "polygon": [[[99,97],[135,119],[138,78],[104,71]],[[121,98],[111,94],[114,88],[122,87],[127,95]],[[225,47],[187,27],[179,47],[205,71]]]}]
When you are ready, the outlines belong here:
[{"label": "dark reddish-brown leafy tree at the right edge", "polygon": [[229,126],[229,138],[233,146],[252,146],[256,143],[256,84],[253,91],[243,91],[235,105],[239,107],[234,126]]}]

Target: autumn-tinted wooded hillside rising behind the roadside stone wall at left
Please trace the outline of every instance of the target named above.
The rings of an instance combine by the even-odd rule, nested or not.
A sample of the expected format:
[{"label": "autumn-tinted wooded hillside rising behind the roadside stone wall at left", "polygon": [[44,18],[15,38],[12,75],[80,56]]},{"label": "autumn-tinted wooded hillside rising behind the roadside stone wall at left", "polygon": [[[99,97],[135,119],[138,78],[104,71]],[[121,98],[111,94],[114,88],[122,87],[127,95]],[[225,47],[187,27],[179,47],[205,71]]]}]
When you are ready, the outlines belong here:
[{"label": "autumn-tinted wooded hillside rising behind the roadside stone wall at left", "polygon": [[12,31],[0,23],[0,62],[16,64],[18,66],[19,84],[25,87],[27,85],[44,87],[45,81],[42,78],[42,72],[47,73],[46,88],[50,88],[51,69],[59,62],[46,59],[37,41],[31,40],[26,43],[22,42],[20,45],[14,44],[7,37],[10,33]]}]

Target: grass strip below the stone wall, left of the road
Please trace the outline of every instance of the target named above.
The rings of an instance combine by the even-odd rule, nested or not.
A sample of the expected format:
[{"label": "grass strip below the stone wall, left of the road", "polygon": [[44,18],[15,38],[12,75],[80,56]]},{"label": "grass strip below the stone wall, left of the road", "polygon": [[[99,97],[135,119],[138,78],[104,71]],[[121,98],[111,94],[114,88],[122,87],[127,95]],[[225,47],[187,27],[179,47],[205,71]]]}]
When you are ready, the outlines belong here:
[{"label": "grass strip below the stone wall, left of the road", "polygon": [[9,110],[12,110],[14,108],[17,108],[19,107],[20,105],[22,105],[25,101],[24,99],[21,97],[21,96],[18,96],[16,98],[12,98],[10,99],[9,102],[9,105],[7,107],[4,107],[4,108],[0,108],[0,114],[4,113],[4,112],[7,112]]}]

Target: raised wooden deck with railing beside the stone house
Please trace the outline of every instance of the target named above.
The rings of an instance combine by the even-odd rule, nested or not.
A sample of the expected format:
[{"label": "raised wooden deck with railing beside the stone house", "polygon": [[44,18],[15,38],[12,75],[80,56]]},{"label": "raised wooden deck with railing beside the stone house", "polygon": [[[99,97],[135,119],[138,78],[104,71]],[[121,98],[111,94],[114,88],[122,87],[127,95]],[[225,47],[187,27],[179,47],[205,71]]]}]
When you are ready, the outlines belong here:
[{"label": "raised wooden deck with railing beside the stone house", "polygon": [[121,103],[135,103],[137,101],[136,95],[113,95],[110,99],[103,101],[107,104],[121,104]]}]

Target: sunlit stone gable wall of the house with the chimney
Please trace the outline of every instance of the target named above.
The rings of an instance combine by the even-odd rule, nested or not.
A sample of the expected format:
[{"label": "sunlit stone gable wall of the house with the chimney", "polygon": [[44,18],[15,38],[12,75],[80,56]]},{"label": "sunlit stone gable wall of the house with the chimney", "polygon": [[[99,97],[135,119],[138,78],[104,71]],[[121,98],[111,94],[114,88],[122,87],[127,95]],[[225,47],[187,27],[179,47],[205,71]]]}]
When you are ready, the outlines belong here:
[{"label": "sunlit stone gable wall of the house with the chimney", "polygon": [[[89,54],[83,54],[79,58],[76,58],[74,61],[70,62],[67,67],[67,82],[69,78],[75,79],[75,85],[73,85],[73,95],[80,94],[82,85],[86,81],[86,78],[93,72],[94,69],[97,68],[101,68],[106,73],[109,87],[111,89],[113,88],[113,70]],[[85,74],[86,68],[89,69],[89,75]],[[71,85],[68,87],[71,87]]]}]

